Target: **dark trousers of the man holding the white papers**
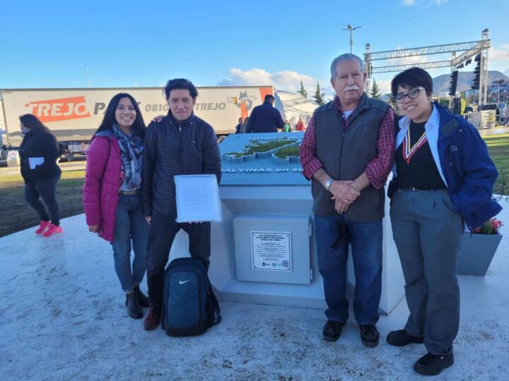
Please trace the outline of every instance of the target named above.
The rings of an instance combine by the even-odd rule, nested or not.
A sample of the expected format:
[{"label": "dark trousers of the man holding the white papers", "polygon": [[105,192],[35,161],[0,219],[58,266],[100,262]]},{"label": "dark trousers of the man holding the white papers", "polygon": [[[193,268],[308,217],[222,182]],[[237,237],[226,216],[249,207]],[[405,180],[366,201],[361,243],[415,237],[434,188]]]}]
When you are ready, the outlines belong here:
[{"label": "dark trousers of the man holding the white papers", "polygon": [[163,286],[165,266],[170,255],[175,236],[180,231],[189,234],[189,253],[197,258],[209,270],[209,257],[211,253],[211,225],[210,222],[201,224],[179,224],[175,217],[161,214],[154,210],[152,221],[148,230],[147,253],[147,283],[148,296],[152,306],[163,304]]}]

